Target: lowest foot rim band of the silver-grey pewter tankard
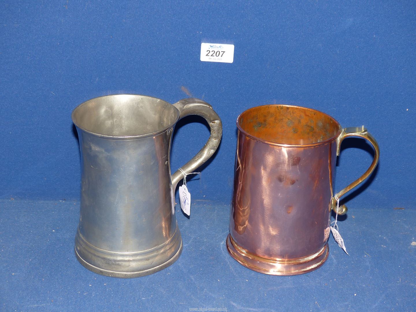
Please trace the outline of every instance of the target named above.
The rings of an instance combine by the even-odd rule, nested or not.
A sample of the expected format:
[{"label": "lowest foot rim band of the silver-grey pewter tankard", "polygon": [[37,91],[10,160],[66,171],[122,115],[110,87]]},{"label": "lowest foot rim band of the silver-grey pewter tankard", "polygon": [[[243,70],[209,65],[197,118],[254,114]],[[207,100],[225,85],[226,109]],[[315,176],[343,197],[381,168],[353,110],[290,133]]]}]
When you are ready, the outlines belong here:
[{"label": "lowest foot rim band of the silver-grey pewter tankard", "polygon": [[81,263],[85,268],[87,268],[88,270],[90,270],[94,273],[98,273],[98,274],[109,276],[109,277],[133,278],[133,277],[140,277],[140,276],[150,275],[150,274],[156,273],[156,272],[158,272],[160,270],[163,270],[164,268],[172,265],[173,262],[178,260],[179,256],[181,255],[182,247],[183,247],[183,245],[182,245],[182,241],[181,241],[181,245],[179,246],[178,251],[168,261],[162,263],[161,265],[158,265],[157,267],[152,267],[150,269],[141,270],[141,271],[137,271],[137,272],[117,272],[117,271],[105,270],[105,269],[96,267],[96,266],[86,262],[84,259],[82,259],[81,256],[77,252],[77,248],[74,248],[74,250],[75,250],[75,255],[76,255],[77,260],[79,261],[79,263]]}]

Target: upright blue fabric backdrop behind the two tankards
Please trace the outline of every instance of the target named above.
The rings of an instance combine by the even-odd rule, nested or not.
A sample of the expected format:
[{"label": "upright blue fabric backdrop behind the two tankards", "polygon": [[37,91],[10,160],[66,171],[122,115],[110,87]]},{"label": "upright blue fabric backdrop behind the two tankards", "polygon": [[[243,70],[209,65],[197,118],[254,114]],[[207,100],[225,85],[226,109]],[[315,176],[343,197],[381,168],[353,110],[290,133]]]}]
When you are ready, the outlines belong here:
[{"label": "upright blue fabric backdrop behind the two tankards", "polygon": [[[199,97],[223,120],[223,140],[194,200],[230,203],[235,119],[251,106],[319,109],[365,125],[381,159],[350,208],[411,208],[415,198],[415,2],[3,1],[0,4],[0,198],[79,198],[70,114],[106,94],[169,102]],[[232,64],[201,62],[201,42],[235,45]],[[209,132],[176,127],[172,168]],[[188,143],[186,143],[188,141]],[[336,190],[366,170],[372,150],[344,142]]]}]

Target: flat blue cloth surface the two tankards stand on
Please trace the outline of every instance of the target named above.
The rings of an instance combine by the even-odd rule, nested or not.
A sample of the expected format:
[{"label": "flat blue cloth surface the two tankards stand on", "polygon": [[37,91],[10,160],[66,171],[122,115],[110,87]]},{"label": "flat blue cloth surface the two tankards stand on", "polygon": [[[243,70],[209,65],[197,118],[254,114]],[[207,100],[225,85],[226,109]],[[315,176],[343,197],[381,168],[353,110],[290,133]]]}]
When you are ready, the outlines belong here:
[{"label": "flat blue cloth surface the two tankards stand on", "polygon": [[[329,238],[322,267],[291,276],[251,271],[226,250],[229,206],[176,206],[181,257],[134,279],[105,277],[74,256],[79,202],[0,201],[4,311],[414,311],[416,212],[350,207],[339,220],[349,255]],[[224,309],[225,308],[225,309]]]}]

